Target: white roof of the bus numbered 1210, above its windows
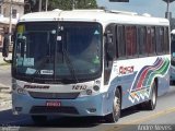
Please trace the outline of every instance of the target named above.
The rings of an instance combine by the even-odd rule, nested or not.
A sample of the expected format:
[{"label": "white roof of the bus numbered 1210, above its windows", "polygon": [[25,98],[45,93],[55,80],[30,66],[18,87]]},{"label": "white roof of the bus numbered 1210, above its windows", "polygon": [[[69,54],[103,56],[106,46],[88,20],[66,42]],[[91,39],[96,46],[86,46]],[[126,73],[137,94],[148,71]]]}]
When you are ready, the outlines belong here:
[{"label": "white roof of the bus numbered 1210, above its windows", "polygon": [[104,10],[54,10],[48,12],[35,12],[23,15],[19,22],[39,21],[77,21],[77,22],[100,22],[102,24],[147,24],[147,25],[170,25],[168,20],[152,17],[150,15],[138,15],[135,12],[104,11]]}]

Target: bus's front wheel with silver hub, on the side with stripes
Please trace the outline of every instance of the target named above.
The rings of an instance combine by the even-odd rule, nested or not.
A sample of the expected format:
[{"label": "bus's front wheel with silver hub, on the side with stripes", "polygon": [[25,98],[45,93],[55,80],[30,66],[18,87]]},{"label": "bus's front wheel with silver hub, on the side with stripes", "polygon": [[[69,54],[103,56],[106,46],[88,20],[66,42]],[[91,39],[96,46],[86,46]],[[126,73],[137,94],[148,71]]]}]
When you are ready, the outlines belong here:
[{"label": "bus's front wheel with silver hub, on the side with stripes", "polygon": [[121,97],[120,97],[119,90],[116,88],[116,93],[113,102],[113,112],[105,116],[105,121],[117,122],[120,117],[120,110],[121,110]]}]

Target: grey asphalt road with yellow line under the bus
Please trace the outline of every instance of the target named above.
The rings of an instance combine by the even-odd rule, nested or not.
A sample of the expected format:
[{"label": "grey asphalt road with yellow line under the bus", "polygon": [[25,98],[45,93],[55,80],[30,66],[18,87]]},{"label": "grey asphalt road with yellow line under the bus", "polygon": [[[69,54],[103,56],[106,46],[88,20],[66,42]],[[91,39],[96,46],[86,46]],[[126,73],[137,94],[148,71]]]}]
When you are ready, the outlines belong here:
[{"label": "grey asphalt road with yellow line under the bus", "polygon": [[[1,74],[3,75],[4,84],[7,82],[10,83],[10,74],[0,73],[0,78]],[[105,123],[105,121],[96,118],[55,117],[49,118],[47,123],[36,126],[30,116],[13,116],[11,110],[4,110],[0,111],[0,131],[143,131],[142,128],[174,131],[174,99],[175,86],[171,86],[168,93],[158,98],[155,110],[139,110],[137,107],[125,109],[121,111],[121,118],[117,123]]]}]

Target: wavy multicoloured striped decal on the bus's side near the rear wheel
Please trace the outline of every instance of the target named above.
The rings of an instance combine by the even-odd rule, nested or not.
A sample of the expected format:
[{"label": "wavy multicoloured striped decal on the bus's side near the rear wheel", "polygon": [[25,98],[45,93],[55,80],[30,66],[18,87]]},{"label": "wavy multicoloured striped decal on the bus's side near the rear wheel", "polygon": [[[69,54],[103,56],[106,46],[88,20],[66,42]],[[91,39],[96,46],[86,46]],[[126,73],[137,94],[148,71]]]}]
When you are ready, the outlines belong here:
[{"label": "wavy multicoloured striped decal on the bus's side near the rear wheel", "polygon": [[136,99],[139,102],[140,98],[149,98],[151,91],[150,85],[154,78],[158,75],[163,78],[167,73],[168,67],[170,60],[167,58],[158,58],[153,66],[143,67],[132,83],[129,92],[129,100],[135,103]]}]

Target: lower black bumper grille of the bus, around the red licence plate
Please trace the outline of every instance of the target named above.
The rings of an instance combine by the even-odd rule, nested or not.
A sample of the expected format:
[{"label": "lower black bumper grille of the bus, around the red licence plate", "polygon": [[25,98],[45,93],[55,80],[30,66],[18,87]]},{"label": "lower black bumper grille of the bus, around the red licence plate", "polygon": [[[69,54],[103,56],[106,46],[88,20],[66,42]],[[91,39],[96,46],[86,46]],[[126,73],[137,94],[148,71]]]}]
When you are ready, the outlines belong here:
[{"label": "lower black bumper grille of the bus, around the red licence plate", "polygon": [[71,114],[79,115],[74,107],[46,107],[46,106],[33,106],[31,114]]}]

